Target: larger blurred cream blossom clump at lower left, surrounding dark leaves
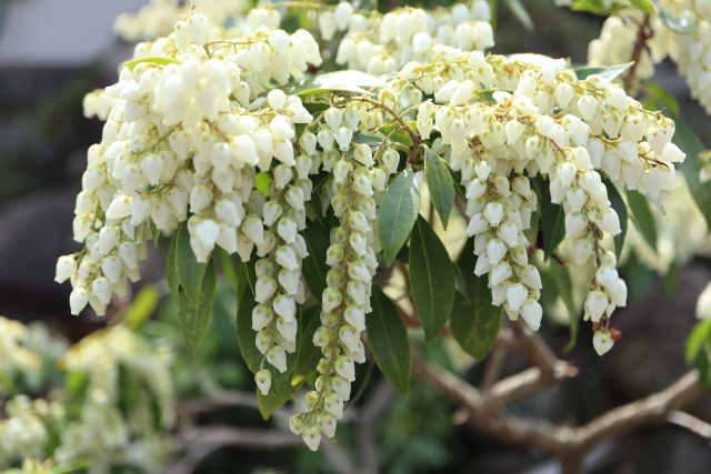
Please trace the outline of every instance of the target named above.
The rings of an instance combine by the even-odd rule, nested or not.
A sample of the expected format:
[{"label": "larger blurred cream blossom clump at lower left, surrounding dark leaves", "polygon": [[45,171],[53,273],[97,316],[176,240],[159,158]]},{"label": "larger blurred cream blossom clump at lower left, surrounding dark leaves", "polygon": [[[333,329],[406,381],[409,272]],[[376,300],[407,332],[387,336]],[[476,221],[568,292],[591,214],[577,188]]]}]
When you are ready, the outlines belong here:
[{"label": "larger blurred cream blossom clump at lower left, surrounding dark leaves", "polygon": [[[113,463],[161,472],[161,434],[174,424],[172,353],[152,346],[123,325],[94,332],[62,356],[69,373],[87,377],[80,420],[62,433],[54,451],[59,463],[89,460],[90,473],[109,472]],[[131,402],[119,397],[130,387]]]}]

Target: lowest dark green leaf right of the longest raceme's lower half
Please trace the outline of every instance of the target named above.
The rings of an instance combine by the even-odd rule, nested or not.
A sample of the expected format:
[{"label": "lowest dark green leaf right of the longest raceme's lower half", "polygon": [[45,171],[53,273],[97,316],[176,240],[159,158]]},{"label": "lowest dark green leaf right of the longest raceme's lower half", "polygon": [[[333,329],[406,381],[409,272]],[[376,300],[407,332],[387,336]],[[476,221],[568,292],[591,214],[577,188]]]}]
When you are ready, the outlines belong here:
[{"label": "lowest dark green leaf right of the longest raceme's lower half", "polygon": [[410,394],[412,353],[408,330],[394,303],[373,285],[373,311],[365,314],[370,350],[380,371],[404,396]]}]

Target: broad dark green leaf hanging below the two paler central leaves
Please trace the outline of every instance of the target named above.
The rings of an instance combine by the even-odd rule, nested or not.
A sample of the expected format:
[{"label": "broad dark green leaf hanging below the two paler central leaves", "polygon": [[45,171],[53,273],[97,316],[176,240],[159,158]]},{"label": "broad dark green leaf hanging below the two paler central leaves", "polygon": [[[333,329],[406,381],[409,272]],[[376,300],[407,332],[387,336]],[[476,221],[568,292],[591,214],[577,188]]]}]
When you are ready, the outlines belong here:
[{"label": "broad dark green leaf hanging below the two paler central leaves", "polygon": [[410,286],[424,339],[430,341],[452,311],[457,281],[444,244],[422,216],[410,241]]}]

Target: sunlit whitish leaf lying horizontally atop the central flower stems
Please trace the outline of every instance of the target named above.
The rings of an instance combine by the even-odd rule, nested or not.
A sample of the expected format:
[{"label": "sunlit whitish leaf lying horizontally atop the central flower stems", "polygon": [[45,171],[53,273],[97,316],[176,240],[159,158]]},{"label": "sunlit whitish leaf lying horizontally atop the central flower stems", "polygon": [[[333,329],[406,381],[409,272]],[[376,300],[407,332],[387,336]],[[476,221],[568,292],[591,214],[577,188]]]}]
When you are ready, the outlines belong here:
[{"label": "sunlit whitish leaf lying horizontally atop the central flower stems", "polygon": [[382,80],[361,71],[337,71],[301,79],[288,84],[284,92],[299,97],[317,95],[324,92],[370,95],[371,93],[363,88],[380,88],[382,85],[384,85]]}]

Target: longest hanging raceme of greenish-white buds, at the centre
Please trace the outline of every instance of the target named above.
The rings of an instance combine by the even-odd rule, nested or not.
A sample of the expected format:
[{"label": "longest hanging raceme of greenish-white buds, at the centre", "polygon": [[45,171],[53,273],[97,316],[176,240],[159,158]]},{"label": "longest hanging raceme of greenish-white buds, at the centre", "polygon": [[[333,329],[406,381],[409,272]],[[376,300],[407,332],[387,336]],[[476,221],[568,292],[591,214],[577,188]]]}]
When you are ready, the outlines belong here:
[{"label": "longest hanging raceme of greenish-white buds, at the centre", "polygon": [[340,222],[330,234],[327,264],[331,270],[321,296],[321,326],[313,334],[313,344],[323,354],[317,367],[320,375],[316,390],[304,396],[309,411],[290,420],[291,431],[301,434],[311,450],[318,448],[321,433],[334,435],[356,380],[354,363],[365,362],[361,333],[365,314],[372,311],[375,254],[381,250],[377,209],[388,178],[400,162],[393,149],[380,145],[373,157],[370,145],[351,144],[353,132],[373,120],[368,103],[342,98],[332,103],[346,107],[330,107],[319,115],[323,123],[318,134],[302,135],[312,155],[319,154],[317,143],[322,149],[322,169],[330,173],[322,188],[322,203],[324,209],[332,205]]}]

